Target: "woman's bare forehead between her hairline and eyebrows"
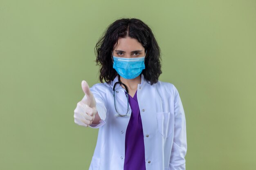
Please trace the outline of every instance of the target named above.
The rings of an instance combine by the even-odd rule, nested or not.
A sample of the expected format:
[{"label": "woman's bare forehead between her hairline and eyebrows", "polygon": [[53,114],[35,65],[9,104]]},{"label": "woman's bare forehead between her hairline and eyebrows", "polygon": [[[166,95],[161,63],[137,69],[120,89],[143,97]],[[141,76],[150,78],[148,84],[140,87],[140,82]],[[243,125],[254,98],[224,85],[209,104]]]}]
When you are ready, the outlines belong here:
[{"label": "woman's bare forehead between her hairline and eyebrows", "polygon": [[142,44],[139,43],[137,39],[130,37],[119,38],[116,44],[114,45],[114,47],[116,46],[114,50],[134,51],[144,49]]}]

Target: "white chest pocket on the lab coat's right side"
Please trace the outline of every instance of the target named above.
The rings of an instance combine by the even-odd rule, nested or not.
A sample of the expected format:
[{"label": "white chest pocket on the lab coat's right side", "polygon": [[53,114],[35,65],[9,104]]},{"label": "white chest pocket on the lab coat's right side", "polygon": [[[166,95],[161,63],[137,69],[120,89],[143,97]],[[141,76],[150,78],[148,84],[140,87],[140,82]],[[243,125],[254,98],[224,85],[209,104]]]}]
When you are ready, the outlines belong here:
[{"label": "white chest pocket on the lab coat's right side", "polygon": [[171,135],[171,124],[170,112],[157,112],[158,130],[164,138],[168,138]]}]

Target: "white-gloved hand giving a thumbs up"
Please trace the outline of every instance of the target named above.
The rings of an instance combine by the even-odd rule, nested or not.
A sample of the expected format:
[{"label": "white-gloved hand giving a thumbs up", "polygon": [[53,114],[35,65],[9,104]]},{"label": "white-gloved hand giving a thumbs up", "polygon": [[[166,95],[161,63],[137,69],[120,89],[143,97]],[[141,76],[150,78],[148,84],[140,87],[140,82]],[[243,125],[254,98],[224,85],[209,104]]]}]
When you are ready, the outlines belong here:
[{"label": "white-gloved hand giving a thumbs up", "polygon": [[74,121],[78,125],[88,127],[90,124],[92,124],[92,121],[97,113],[96,101],[87,82],[84,80],[82,81],[82,89],[85,96],[80,102],[77,103],[74,110]]}]

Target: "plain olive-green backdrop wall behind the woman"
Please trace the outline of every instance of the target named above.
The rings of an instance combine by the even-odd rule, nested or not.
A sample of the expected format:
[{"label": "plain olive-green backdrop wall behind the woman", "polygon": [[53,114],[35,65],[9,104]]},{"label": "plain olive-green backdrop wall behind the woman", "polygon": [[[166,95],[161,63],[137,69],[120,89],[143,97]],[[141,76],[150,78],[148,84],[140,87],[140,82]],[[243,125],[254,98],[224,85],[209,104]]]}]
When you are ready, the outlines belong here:
[{"label": "plain olive-green backdrop wall behind the woman", "polygon": [[98,129],[74,123],[94,46],[139,18],[186,115],[187,170],[256,169],[255,0],[0,0],[0,170],[87,170]]}]

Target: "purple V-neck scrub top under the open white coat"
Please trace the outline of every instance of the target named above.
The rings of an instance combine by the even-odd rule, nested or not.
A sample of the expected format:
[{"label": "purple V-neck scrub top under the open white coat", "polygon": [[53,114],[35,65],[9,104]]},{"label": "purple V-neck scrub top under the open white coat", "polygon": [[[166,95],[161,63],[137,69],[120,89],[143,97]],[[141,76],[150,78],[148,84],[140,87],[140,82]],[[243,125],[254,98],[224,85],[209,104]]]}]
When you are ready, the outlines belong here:
[{"label": "purple V-neck scrub top under the open white coat", "polygon": [[132,109],[126,129],[124,170],[146,170],[144,135],[137,100],[137,91],[132,98],[129,95]]}]

